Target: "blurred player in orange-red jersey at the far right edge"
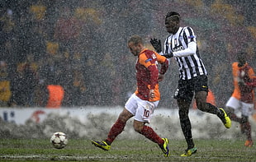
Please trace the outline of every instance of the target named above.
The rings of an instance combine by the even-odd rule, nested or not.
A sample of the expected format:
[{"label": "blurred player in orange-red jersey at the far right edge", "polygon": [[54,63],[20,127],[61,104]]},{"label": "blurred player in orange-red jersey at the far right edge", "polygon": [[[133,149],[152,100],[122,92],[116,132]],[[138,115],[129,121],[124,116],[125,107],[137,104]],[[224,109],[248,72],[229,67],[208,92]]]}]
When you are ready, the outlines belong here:
[{"label": "blurred player in orange-red jersey at the far right edge", "polygon": [[[246,53],[239,53],[238,62],[232,64],[232,73],[234,78],[234,91],[225,107],[228,109],[230,119],[240,124],[241,132],[247,137],[244,146],[253,146],[254,142],[251,135],[251,125],[249,116],[254,111],[254,87],[255,73],[254,69],[246,62]],[[241,112],[239,118],[235,111]]]}]

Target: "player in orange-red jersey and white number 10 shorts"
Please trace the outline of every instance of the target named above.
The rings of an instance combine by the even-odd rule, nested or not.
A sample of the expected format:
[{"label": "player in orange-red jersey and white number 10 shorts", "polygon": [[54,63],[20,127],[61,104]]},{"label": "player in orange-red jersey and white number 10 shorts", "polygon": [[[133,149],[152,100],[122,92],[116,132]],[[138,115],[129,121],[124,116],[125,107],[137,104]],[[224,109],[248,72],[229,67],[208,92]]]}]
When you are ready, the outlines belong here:
[{"label": "player in orange-red jersey and white number 10 shorts", "polygon": [[[127,100],[125,109],[120,113],[116,123],[114,123],[108,132],[107,139],[104,141],[92,141],[92,144],[102,150],[110,150],[111,143],[124,130],[126,122],[130,118],[135,117],[135,132],[139,132],[149,140],[157,143],[163,151],[164,156],[167,157],[170,155],[168,139],[159,137],[152,127],[146,126],[145,124],[149,123],[154,110],[159,104],[159,81],[163,80],[164,73],[168,69],[168,59],[159,55],[159,53],[145,49],[143,41],[138,35],[130,37],[128,48],[130,49],[130,53],[138,57],[135,65],[137,90]],[[162,65],[160,71],[157,67],[158,63]]]}]

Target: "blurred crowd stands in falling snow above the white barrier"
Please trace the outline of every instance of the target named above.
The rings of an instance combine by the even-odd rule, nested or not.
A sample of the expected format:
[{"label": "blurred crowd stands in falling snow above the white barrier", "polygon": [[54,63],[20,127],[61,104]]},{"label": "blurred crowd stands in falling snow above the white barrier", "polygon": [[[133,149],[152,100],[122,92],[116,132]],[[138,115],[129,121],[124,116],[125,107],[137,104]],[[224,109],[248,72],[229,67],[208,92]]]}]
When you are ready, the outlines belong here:
[{"label": "blurred crowd stands in falling snow above the white barrier", "polygon": [[[255,62],[254,0],[3,0],[0,4],[0,105],[42,107],[45,85],[64,89],[63,107],[124,105],[135,91],[135,60],[127,38],[164,43],[167,12],[191,26],[216,104],[233,90],[231,63],[241,51]],[[159,107],[177,108],[178,66],[160,83]]]}]

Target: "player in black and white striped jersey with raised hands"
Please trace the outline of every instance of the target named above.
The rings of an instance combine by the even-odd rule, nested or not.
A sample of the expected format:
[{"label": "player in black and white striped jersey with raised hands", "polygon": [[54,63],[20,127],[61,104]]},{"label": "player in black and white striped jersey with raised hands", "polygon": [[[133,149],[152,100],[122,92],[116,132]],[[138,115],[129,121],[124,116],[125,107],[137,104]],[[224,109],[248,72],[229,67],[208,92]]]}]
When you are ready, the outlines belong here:
[{"label": "player in black and white striped jersey with raised hands", "polygon": [[178,101],[180,124],[187,141],[187,149],[181,156],[191,156],[197,152],[188,117],[194,94],[198,109],[216,114],[227,128],[231,127],[231,122],[224,109],[206,103],[207,72],[197,49],[196,35],[191,27],[180,27],[179,23],[178,12],[168,12],[165,17],[165,28],[170,35],[165,39],[164,53],[162,53],[160,40],[151,39],[150,43],[158,53],[166,58],[174,58],[178,62],[179,81],[174,99]]}]

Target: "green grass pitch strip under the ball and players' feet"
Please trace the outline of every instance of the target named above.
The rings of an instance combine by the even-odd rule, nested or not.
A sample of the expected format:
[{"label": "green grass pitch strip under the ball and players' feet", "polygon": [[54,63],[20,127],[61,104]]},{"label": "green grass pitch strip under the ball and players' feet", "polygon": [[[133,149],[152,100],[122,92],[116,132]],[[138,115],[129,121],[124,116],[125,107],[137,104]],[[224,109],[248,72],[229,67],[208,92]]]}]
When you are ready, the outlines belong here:
[{"label": "green grass pitch strip under the ball and players' feet", "polygon": [[88,140],[72,140],[64,149],[50,140],[0,139],[0,161],[256,161],[256,147],[244,147],[239,140],[195,140],[197,154],[180,157],[186,149],[183,140],[170,140],[171,156],[164,157],[152,141],[116,139],[111,150],[100,150]]}]

